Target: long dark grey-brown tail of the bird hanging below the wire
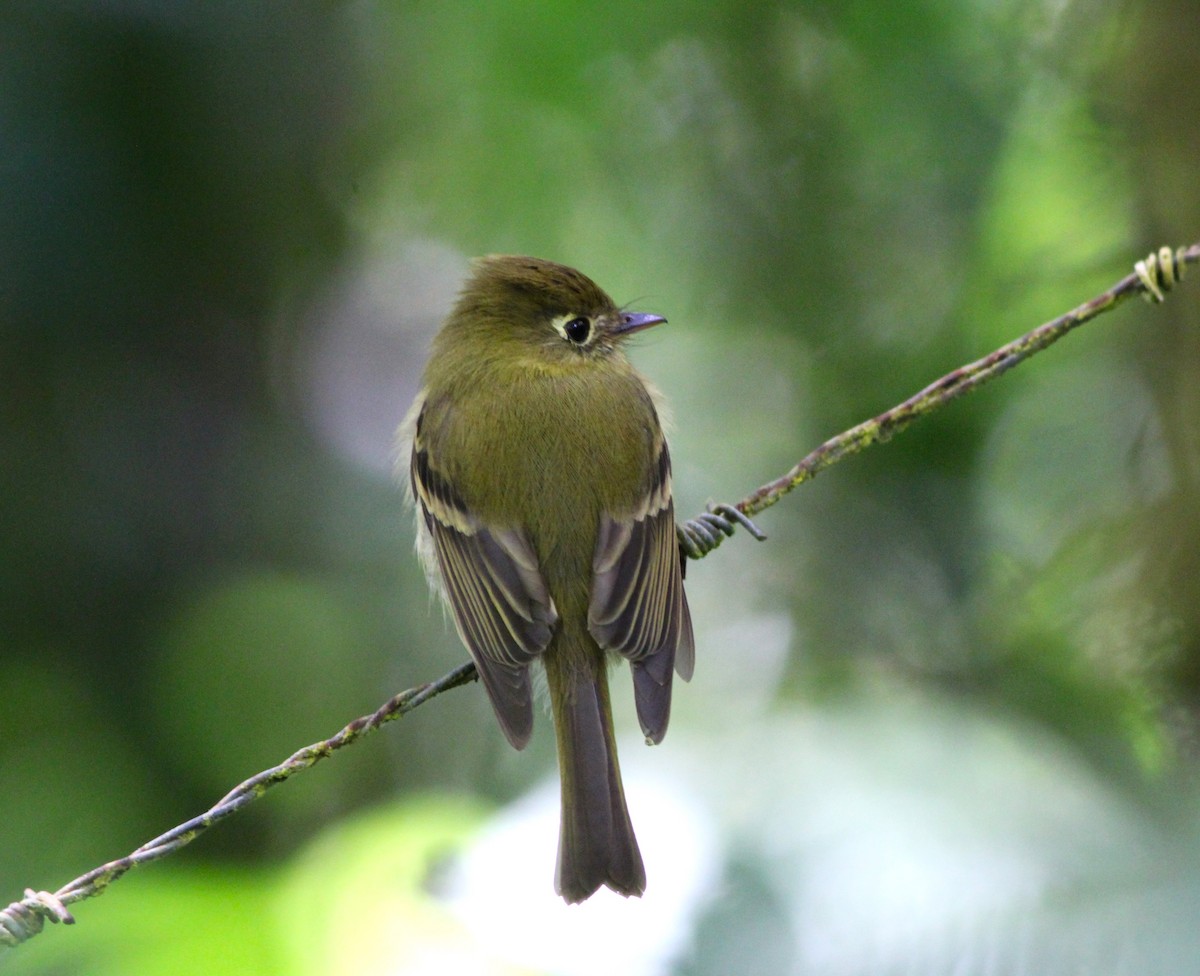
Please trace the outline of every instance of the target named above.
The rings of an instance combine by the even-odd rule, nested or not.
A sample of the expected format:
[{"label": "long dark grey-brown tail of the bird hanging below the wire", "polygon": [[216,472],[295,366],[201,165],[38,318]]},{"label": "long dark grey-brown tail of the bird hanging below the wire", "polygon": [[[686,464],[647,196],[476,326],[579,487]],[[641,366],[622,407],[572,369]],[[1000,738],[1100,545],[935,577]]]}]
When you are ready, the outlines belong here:
[{"label": "long dark grey-brown tail of the bird hanging below the wire", "polygon": [[547,670],[563,780],[554,890],[571,904],[601,885],[626,897],[641,894],[646,868],[625,808],[604,664],[596,673],[554,673],[553,665]]}]

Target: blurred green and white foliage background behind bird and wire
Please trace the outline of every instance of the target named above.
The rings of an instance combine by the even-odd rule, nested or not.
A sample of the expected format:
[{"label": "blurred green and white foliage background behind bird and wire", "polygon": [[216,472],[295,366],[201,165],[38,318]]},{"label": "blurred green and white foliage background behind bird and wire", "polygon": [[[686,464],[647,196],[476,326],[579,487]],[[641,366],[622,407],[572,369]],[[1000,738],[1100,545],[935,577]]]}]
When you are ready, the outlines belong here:
[{"label": "blurred green and white foliage background behind bird and wire", "polygon": [[[470,256],[671,324],[680,514],[1200,239],[1193,0],[0,10],[0,903],[463,660],[391,474]],[[1182,974],[1200,963],[1200,282],[689,573],[551,891],[552,741],[455,691],[12,974]]]}]

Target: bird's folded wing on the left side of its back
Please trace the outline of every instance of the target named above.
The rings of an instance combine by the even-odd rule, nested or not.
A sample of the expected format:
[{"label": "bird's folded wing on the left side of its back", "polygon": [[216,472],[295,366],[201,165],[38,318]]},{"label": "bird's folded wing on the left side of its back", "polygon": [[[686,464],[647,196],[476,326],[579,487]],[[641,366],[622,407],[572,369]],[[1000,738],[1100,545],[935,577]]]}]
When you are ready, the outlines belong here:
[{"label": "bird's folded wing on the left side of its back", "polygon": [[536,556],[518,528],[486,526],[472,514],[438,471],[420,417],[409,474],[455,625],[500,727],[521,749],[533,730],[529,663],[546,649],[558,619]]}]

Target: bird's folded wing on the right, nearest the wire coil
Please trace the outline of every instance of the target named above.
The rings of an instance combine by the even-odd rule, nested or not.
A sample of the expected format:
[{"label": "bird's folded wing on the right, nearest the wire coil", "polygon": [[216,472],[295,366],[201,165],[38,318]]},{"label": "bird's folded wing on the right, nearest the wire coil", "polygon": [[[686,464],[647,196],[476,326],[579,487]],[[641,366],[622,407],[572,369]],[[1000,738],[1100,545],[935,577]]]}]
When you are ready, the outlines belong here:
[{"label": "bird's folded wing on the right, nearest the wire coil", "polygon": [[642,731],[660,742],[671,715],[672,670],[691,678],[695,643],[671,501],[671,455],[661,435],[655,447],[641,504],[600,516],[588,630],[601,647],[629,658]]}]

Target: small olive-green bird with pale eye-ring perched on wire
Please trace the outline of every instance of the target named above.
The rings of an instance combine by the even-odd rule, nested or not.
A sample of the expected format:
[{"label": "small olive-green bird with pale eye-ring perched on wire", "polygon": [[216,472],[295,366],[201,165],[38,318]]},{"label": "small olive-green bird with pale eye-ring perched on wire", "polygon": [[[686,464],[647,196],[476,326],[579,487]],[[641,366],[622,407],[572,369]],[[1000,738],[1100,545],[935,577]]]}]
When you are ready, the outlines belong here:
[{"label": "small olive-green bird with pale eye-ring perched on wire", "polygon": [[529,257],[474,264],[409,413],[426,565],[496,717],[521,749],[529,667],[546,669],[563,814],[554,887],[646,890],[608,701],[629,660],[649,742],[691,677],[691,617],[654,395],[624,341],[661,316],[618,309],[590,279]]}]

